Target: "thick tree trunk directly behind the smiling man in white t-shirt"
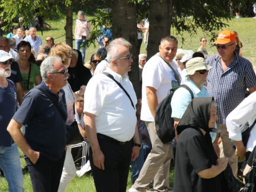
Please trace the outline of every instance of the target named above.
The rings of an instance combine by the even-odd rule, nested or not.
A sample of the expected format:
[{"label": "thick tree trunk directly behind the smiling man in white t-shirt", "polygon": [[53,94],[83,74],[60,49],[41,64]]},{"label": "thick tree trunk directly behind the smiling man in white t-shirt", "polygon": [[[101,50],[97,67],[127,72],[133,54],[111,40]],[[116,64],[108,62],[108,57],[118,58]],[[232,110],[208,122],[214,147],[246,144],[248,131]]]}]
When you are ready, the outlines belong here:
[{"label": "thick tree trunk directly behind the smiling man in white t-shirt", "polygon": [[170,35],[173,0],[150,1],[150,29],[148,30],[147,60],[159,52],[161,38]]}]

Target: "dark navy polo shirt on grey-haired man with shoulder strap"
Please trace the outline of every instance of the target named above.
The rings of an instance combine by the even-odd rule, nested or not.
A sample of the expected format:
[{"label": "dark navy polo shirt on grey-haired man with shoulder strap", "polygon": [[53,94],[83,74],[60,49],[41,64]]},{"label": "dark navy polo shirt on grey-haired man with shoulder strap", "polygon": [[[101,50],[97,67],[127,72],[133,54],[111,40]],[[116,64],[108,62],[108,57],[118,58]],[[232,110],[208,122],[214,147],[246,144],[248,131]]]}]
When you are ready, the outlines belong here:
[{"label": "dark navy polo shirt on grey-haired man with shoulder strap", "polygon": [[[60,109],[68,116],[65,93],[61,89],[59,98],[42,81],[39,87],[47,91],[59,103]],[[23,98],[13,119],[22,123],[23,134],[34,151],[57,161],[66,146],[66,125],[56,106],[37,89],[30,90]],[[26,156],[25,156],[26,158]]]}]

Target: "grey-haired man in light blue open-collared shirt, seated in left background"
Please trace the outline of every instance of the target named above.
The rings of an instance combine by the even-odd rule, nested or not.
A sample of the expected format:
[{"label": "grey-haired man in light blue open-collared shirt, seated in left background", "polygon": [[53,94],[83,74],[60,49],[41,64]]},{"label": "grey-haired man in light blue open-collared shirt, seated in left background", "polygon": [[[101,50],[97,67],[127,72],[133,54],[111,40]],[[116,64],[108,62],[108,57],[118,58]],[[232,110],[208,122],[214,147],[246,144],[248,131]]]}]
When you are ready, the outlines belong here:
[{"label": "grey-haired man in light blue open-collared shirt, seated in left background", "polygon": [[36,28],[29,28],[29,36],[27,36],[24,40],[30,42],[31,48],[35,51],[35,58],[37,57],[37,52],[39,50],[40,45],[42,45],[42,40],[40,37],[36,36]]}]

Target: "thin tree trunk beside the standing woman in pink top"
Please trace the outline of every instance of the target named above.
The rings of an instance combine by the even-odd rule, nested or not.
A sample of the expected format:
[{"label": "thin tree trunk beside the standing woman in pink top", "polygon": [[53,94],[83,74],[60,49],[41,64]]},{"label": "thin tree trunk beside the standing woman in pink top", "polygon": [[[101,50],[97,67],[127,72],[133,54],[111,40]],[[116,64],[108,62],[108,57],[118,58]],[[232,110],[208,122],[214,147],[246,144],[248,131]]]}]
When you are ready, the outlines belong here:
[{"label": "thin tree trunk beside the standing woman in pink top", "polygon": [[73,6],[71,5],[67,9],[66,13],[66,26],[64,27],[66,31],[66,44],[68,44],[73,49]]}]

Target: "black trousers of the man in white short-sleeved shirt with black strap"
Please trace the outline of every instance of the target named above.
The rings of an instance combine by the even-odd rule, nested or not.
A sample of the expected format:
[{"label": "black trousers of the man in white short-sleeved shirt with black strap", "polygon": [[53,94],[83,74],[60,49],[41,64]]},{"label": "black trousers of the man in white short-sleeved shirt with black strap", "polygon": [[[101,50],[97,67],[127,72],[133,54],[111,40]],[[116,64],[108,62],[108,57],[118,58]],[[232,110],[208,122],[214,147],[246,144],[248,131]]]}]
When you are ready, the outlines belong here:
[{"label": "black trousers of the man in white short-sleeved shirt with black strap", "polygon": [[99,169],[93,163],[90,147],[89,160],[97,192],[125,192],[132,157],[133,141],[119,145],[112,141],[98,138],[100,150],[104,154],[104,167]]}]

